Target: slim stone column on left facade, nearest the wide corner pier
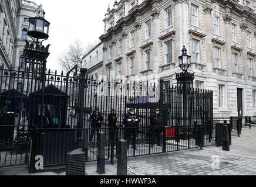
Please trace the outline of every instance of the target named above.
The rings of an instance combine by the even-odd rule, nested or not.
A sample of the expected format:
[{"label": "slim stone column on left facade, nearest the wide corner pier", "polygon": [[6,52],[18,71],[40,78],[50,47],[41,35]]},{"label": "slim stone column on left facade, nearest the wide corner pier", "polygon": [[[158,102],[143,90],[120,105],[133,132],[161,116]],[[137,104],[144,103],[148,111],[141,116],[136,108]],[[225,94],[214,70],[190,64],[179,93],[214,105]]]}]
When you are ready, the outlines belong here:
[{"label": "slim stone column on left facade, nearest the wide corner pier", "polygon": [[154,9],[152,12],[152,18],[153,18],[153,53],[151,53],[151,64],[153,68],[153,74],[159,74],[159,66],[160,66],[160,22],[159,22],[159,10]]}]

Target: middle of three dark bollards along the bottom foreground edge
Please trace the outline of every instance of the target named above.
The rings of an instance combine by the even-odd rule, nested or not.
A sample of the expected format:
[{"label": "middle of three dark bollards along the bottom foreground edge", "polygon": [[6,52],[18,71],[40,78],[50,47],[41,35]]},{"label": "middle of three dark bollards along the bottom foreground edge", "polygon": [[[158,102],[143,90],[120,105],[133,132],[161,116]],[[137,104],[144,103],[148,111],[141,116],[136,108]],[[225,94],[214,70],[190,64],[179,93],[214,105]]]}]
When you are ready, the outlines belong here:
[{"label": "middle of three dark bollards along the bottom foreground edge", "polygon": [[99,133],[99,145],[97,155],[97,173],[105,174],[105,133]]}]

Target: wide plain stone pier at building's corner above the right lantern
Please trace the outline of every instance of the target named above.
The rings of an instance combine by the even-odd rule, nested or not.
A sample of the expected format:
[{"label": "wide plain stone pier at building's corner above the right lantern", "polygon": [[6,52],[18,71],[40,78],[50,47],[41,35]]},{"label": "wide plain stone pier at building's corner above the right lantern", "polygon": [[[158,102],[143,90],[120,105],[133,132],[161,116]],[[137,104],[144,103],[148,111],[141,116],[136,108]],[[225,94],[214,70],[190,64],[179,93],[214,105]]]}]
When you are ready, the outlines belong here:
[{"label": "wide plain stone pier at building's corner above the right lantern", "polygon": [[[183,46],[190,46],[190,39],[188,37],[188,29],[189,29],[189,10],[188,10],[188,0],[173,0],[174,1],[174,27],[176,30],[176,44],[175,53],[180,55],[181,49]],[[188,47],[188,54],[191,54],[190,47]],[[176,65],[178,65],[178,60],[176,61]]]}]

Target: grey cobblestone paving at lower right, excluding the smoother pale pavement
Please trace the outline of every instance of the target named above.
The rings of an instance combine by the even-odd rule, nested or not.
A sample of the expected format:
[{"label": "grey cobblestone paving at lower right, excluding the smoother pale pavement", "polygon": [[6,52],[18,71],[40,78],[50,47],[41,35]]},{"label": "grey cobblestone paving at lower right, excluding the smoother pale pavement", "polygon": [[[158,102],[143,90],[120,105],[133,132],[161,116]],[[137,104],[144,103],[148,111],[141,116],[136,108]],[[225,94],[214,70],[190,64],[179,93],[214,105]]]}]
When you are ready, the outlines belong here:
[{"label": "grey cobblestone paving at lower right, excluding the smoother pale pavement", "polygon": [[[213,155],[220,157],[219,169],[211,167]],[[208,149],[130,158],[128,165],[140,175],[256,175],[256,158]]]}]

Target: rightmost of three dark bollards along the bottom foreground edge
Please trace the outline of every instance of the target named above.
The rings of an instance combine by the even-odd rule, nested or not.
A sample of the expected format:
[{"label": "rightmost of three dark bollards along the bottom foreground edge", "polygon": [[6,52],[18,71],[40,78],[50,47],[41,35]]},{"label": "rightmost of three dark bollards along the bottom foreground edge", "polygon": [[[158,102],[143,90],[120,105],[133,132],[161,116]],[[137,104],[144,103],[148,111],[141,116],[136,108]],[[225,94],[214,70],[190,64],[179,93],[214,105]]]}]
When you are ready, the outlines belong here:
[{"label": "rightmost of three dark bollards along the bottom foreground edge", "polygon": [[117,175],[127,175],[127,141],[122,139],[118,143]]}]

